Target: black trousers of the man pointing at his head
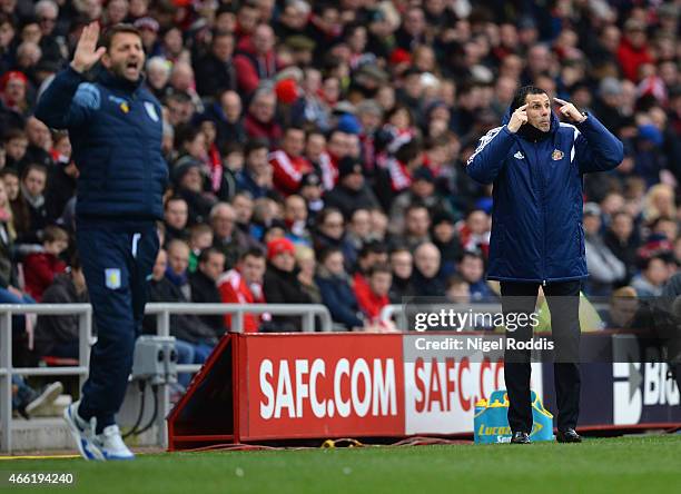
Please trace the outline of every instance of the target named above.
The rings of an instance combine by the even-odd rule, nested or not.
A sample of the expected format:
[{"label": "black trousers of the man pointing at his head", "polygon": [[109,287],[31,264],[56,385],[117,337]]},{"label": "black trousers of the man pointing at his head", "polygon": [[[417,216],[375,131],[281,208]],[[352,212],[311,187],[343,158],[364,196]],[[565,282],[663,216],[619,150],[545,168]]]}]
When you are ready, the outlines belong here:
[{"label": "black trousers of the man pointing at his head", "polygon": [[[539,293],[537,283],[502,281],[502,310],[504,314],[531,314]],[[543,286],[551,312],[551,329],[554,342],[554,382],[557,404],[557,428],[576,427],[580,414],[580,286],[578,281],[554,283]],[[506,338],[530,340],[532,326],[524,325],[506,332]],[[509,393],[509,425],[513,432],[532,432],[532,404],[530,402],[530,350],[506,348],[504,376]]]}]

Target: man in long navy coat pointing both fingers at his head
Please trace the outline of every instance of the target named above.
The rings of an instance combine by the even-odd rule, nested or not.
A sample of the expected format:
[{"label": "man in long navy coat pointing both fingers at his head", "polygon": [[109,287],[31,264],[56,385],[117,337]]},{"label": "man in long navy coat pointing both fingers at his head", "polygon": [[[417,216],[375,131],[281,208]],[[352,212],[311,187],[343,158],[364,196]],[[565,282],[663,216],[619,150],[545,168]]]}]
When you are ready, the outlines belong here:
[{"label": "man in long navy coat pointing both fingers at his head", "polygon": [[[532,313],[540,285],[547,296],[555,344],[557,439],[580,442],[578,366],[581,280],[588,277],[582,227],[582,175],[615,168],[622,142],[593,115],[526,86],[515,95],[503,126],[490,130],[468,158],[466,172],[493,184],[488,279],[501,281],[503,312]],[[512,443],[529,443],[532,432],[530,352],[509,347],[529,340],[532,326],[506,332],[505,382]]]}]

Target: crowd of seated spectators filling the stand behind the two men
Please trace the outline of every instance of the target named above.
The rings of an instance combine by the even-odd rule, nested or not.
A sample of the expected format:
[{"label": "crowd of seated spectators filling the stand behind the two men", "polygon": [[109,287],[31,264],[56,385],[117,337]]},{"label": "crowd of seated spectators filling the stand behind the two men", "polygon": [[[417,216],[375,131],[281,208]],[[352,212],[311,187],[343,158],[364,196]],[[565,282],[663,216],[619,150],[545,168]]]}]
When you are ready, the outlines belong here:
[{"label": "crowd of seated spectators filling the stand behind the two men", "polygon": [[[464,164],[527,83],[624,142],[615,170],[585,177],[585,295],[659,295],[681,261],[680,12],[652,0],[0,0],[0,300],[82,300],[78,162],[32,109],[93,20],[139,29],[164,108],[151,300],[322,303],[337,328],[389,330],[381,310],[406,296],[494,299],[491,186]],[[184,362],[203,362],[230,323],[174,316]],[[49,317],[19,325],[37,348],[76,350]]]}]

